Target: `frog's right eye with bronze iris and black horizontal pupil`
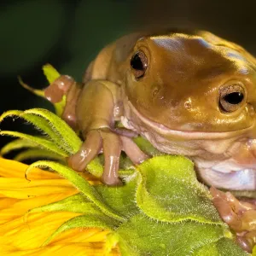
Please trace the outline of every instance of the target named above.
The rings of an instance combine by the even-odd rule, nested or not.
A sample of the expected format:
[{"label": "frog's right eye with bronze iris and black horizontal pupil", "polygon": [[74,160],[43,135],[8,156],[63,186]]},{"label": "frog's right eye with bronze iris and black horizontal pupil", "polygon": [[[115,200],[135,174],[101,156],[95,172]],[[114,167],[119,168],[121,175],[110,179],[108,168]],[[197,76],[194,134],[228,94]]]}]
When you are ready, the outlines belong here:
[{"label": "frog's right eye with bronze iris and black horizontal pupil", "polygon": [[219,106],[224,112],[234,112],[244,102],[245,91],[239,84],[227,85],[219,90]]}]

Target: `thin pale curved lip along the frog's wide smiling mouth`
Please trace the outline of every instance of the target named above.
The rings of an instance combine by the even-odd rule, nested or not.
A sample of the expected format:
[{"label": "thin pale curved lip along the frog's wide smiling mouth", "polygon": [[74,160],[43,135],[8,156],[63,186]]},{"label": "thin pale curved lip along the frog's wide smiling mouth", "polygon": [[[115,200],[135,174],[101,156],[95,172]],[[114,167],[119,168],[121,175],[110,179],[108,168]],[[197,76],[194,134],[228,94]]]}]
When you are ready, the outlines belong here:
[{"label": "thin pale curved lip along the frog's wide smiling mouth", "polygon": [[147,119],[143,116],[143,114],[139,113],[137,109],[131,104],[131,102],[127,101],[128,108],[130,108],[131,113],[135,114],[138,119],[140,119],[144,125],[147,125],[154,131],[158,132],[164,137],[176,137],[179,139],[186,139],[186,140],[200,140],[200,139],[227,139],[232,137],[239,137],[242,134],[246,134],[248,131],[252,131],[253,125],[237,130],[237,131],[218,131],[218,132],[211,132],[211,131],[177,131],[172,130],[166,125],[162,125],[156,123],[150,119]]}]

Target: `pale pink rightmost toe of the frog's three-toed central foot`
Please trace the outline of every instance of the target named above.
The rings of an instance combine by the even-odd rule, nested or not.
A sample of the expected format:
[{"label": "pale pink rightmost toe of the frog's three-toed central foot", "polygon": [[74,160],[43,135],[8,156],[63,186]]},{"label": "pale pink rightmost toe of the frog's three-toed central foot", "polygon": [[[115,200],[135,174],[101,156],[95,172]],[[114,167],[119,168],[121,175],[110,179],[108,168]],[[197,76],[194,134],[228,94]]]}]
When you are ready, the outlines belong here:
[{"label": "pale pink rightmost toe of the frog's three-toed central foot", "polygon": [[123,150],[125,154],[131,159],[131,161],[135,164],[141,164],[144,160],[147,160],[149,156],[137,146],[136,143],[130,138],[121,136],[121,141],[123,144]]}]

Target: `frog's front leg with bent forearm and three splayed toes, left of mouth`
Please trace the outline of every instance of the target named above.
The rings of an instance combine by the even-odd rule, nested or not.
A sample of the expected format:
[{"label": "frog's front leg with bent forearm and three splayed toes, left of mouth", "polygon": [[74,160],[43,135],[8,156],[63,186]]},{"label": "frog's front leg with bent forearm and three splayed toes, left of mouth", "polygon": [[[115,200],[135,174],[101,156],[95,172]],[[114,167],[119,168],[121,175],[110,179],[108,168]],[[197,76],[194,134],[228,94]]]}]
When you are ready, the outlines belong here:
[{"label": "frog's front leg with bent forearm and three splayed toes, left of mouth", "polygon": [[83,172],[97,154],[104,154],[103,183],[116,185],[119,180],[119,156],[124,150],[138,164],[147,159],[131,138],[115,132],[115,119],[122,113],[119,86],[105,80],[90,80],[84,85],[77,103],[79,130],[84,137],[79,152],[68,159],[68,165]]}]

